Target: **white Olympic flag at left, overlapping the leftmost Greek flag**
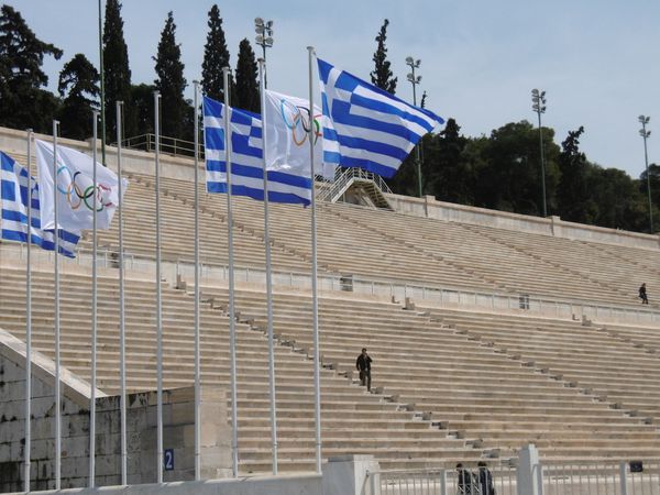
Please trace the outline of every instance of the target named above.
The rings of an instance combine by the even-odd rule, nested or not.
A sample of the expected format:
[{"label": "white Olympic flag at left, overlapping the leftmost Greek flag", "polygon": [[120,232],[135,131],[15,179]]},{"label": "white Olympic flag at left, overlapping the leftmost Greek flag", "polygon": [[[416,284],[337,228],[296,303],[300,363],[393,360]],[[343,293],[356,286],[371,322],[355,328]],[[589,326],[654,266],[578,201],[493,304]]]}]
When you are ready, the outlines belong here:
[{"label": "white Olympic flag at left, overlapping the leftmost Greek flag", "polygon": [[[36,166],[40,182],[40,202],[44,229],[54,229],[53,215],[53,144],[35,140]],[[97,227],[110,228],[119,204],[117,175],[97,163],[97,184],[94,185],[94,160],[66,146],[57,146],[57,222],[61,229],[85,230],[94,227],[94,208]],[[128,180],[122,179],[123,191]]]}]

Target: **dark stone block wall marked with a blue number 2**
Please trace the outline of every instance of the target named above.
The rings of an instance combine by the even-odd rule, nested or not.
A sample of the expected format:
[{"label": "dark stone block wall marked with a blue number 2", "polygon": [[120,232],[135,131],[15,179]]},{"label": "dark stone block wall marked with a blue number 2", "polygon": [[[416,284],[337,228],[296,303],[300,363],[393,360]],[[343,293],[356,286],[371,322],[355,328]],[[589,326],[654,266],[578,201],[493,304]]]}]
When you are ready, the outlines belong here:
[{"label": "dark stone block wall marked with a blue number 2", "polygon": [[[0,492],[23,488],[25,449],[25,346],[0,330]],[[54,488],[55,411],[54,363],[34,353],[32,365],[31,487]],[[82,487],[89,473],[90,388],[62,371],[62,487]],[[96,484],[120,483],[119,396],[97,391]],[[195,479],[194,389],[163,394],[164,449],[173,449],[174,469],[165,481]],[[156,393],[131,394],[127,399],[129,483],[156,481]],[[231,426],[227,395],[221,388],[201,391],[201,474],[205,479],[231,474]]]}]

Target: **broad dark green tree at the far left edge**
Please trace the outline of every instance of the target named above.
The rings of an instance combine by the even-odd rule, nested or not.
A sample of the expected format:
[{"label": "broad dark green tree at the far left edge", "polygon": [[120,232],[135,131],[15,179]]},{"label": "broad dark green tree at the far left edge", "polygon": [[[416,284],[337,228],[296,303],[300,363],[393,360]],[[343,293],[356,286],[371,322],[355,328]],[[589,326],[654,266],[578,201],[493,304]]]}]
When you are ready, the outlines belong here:
[{"label": "broad dark green tree at the far left edge", "polygon": [[62,57],[62,50],[36,37],[20,12],[0,8],[0,125],[51,132],[57,99],[42,89],[48,77],[44,56]]}]

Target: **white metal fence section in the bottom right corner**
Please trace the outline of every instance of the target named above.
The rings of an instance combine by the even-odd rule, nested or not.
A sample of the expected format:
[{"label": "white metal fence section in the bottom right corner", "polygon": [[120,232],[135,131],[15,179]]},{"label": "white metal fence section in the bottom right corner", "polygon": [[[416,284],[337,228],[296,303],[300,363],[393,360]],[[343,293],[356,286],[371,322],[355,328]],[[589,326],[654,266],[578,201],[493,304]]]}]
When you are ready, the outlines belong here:
[{"label": "white metal fence section in the bottom right corner", "polygon": [[660,461],[541,463],[539,495],[660,495]]}]

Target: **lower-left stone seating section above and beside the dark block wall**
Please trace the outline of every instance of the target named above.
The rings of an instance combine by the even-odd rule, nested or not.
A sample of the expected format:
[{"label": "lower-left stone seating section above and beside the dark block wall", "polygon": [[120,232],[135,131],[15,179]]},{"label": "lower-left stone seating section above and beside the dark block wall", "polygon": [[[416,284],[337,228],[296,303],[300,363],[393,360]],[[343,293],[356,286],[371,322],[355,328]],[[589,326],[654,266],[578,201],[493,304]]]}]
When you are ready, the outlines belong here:
[{"label": "lower-left stone seating section above and beside the dark block wall", "polygon": [[[98,383],[114,394],[119,386],[119,318],[117,280],[99,276]],[[2,326],[24,338],[24,268],[0,268],[7,286],[15,287],[0,300]],[[53,356],[52,273],[33,272],[33,345]],[[62,279],[62,359],[63,365],[82,378],[89,378],[90,285],[89,274],[61,274]],[[131,392],[154,389],[155,375],[155,283],[127,279],[127,377]],[[229,320],[220,309],[201,305],[202,383],[229,384]],[[163,285],[164,386],[190,386],[193,366],[193,298],[184,290]],[[271,471],[271,425],[267,403],[267,340],[261,329],[237,322],[238,407],[241,472]],[[314,387],[312,362],[306,353],[292,351],[288,343],[277,344],[276,394],[282,446],[280,471],[314,464]],[[367,394],[330,369],[321,370],[322,438],[328,438],[324,455],[369,450],[396,466],[389,459],[398,452],[408,463],[427,465],[443,455],[479,459],[481,449],[470,440],[458,439],[431,421],[415,417],[414,411],[386,394]],[[229,418],[228,418],[229,420]],[[243,432],[243,428],[246,428]],[[341,443],[346,435],[346,442]],[[409,435],[411,433],[411,435]],[[371,439],[369,442],[351,438]],[[326,449],[326,446],[324,446]],[[265,466],[265,468],[264,468]]]}]

